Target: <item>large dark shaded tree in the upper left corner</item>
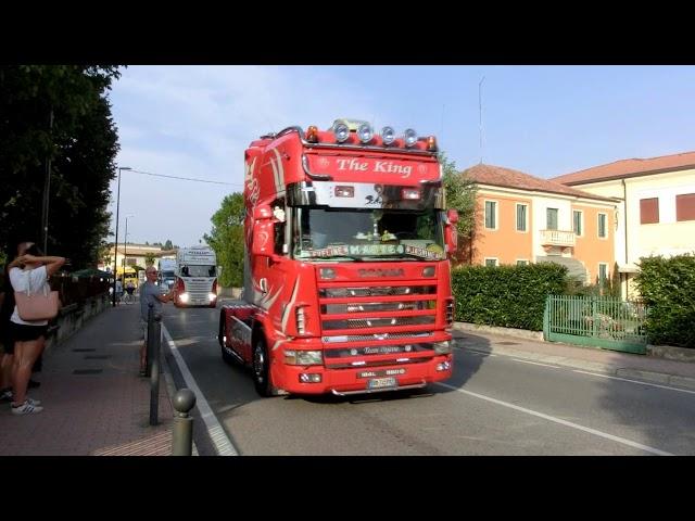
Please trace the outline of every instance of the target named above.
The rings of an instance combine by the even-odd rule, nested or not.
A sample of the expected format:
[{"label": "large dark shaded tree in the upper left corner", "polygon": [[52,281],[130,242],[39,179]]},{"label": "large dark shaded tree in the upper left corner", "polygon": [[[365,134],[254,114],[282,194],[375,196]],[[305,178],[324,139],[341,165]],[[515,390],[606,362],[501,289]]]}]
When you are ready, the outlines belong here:
[{"label": "large dark shaded tree in the upper left corner", "polygon": [[50,160],[47,253],[72,269],[99,260],[118,151],[106,91],[118,77],[115,66],[0,66],[0,249],[40,243]]}]

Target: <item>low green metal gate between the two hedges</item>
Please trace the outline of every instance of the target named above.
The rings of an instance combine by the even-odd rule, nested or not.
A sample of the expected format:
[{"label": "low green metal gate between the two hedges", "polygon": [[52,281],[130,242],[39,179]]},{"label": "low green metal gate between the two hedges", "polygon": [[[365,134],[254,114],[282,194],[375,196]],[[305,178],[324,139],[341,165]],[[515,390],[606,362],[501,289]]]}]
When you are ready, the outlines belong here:
[{"label": "low green metal gate between the two hedges", "polygon": [[551,342],[646,353],[646,307],[609,296],[548,295],[543,336]]}]

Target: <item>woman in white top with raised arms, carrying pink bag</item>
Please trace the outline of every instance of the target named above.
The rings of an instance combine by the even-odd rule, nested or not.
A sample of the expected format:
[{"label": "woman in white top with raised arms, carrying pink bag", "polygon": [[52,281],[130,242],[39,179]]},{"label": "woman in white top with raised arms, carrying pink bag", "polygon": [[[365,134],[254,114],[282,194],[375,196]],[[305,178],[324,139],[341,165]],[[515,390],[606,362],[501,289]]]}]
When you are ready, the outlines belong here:
[{"label": "woman in white top with raised arms, carrying pink bag", "polygon": [[[25,252],[25,255],[20,255],[10,263],[12,289],[14,291],[27,291],[30,287],[33,292],[43,291],[43,287],[48,284],[49,277],[65,264],[65,258],[45,257],[36,244],[31,244]],[[40,412],[43,408],[39,407],[39,402],[27,398],[26,387],[31,376],[31,366],[34,366],[46,345],[48,320],[22,320],[15,305],[10,322],[10,334],[14,340],[14,364],[12,365],[14,402],[12,403],[12,414],[29,415]]]}]

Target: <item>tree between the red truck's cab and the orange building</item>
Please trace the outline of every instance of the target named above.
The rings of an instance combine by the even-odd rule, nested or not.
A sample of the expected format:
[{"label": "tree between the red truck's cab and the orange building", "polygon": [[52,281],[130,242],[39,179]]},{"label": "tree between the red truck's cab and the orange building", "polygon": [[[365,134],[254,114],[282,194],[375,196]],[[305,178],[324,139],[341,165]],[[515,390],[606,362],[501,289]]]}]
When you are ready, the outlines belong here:
[{"label": "tree between the red truck's cab and the orange building", "polygon": [[476,182],[466,171],[458,171],[456,163],[448,161],[444,152],[440,153],[439,161],[443,170],[446,207],[458,212],[458,252],[455,258],[467,259],[476,230]]}]

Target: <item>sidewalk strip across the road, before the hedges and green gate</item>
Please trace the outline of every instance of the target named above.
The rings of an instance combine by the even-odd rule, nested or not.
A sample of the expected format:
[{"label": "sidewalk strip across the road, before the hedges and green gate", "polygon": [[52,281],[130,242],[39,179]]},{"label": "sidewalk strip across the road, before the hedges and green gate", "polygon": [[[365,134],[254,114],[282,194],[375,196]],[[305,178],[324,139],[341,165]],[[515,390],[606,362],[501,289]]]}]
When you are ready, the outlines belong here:
[{"label": "sidewalk strip across the road, before the hedges and green gate", "polygon": [[644,380],[662,385],[695,390],[695,364],[580,347],[556,342],[543,342],[511,335],[463,330],[455,322],[452,332],[463,350],[514,356],[543,364],[569,366],[591,372]]}]

